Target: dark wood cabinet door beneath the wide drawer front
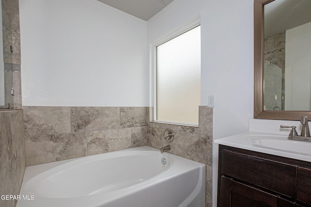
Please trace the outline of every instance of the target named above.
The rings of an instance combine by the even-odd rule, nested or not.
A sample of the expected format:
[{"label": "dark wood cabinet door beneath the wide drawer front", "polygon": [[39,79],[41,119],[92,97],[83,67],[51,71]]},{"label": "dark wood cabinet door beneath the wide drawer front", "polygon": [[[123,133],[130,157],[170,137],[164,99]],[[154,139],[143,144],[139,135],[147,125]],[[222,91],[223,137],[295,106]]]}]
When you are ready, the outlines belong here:
[{"label": "dark wood cabinet door beneath the wide drawer front", "polygon": [[295,207],[294,203],[280,197],[231,180],[221,178],[219,207]]}]

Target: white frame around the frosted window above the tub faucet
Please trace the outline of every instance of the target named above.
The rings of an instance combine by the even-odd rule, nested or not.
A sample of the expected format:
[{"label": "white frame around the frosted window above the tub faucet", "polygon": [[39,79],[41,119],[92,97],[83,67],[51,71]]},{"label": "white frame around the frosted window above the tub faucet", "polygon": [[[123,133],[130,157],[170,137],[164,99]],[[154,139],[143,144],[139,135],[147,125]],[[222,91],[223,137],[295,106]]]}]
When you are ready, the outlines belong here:
[{"label": "white frame around the frosted window above the tub faucet", "polygon": [[[157,83],[156,81],[156,47],[200,25],[201,25],[200,17],[197,17],[194,20],[190,21],[190,23],[188,22],[187,24],[184,24],[183,26],[177,28],[173,32],[169,32],[168,34],[159,38],[154,43],[150,44],[150,83],[151,83],[150,84],[150,103],[153,104],[153,110],[150,110],[149,112],[150,122],[189,126],[189,127],[199,127],[199,124],[156,120],[156,117],[157,117],[156,116],[157,114],[157,111],[156,111],[156,104],[157,104],[157,99],[156,99],[156,95],[157,95],[157,91],[156,91],[156,83]],[[199,106],[198,106],[198,110],[199,110]]]}]

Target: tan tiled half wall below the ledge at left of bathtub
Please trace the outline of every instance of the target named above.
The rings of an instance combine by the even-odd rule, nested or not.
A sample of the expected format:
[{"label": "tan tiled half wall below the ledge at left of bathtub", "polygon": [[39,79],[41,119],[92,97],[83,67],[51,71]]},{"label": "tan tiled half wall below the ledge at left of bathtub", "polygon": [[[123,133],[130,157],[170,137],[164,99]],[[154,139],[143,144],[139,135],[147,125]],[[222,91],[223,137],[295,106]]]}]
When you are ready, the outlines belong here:
[{"label": "tan tiled half wall below the ledge at left of bathtub", "polygon": [[[18,195],[25,171],[22,110],[0,111],[0,196]],[[0,207],[17,200],[0,199]]]}]

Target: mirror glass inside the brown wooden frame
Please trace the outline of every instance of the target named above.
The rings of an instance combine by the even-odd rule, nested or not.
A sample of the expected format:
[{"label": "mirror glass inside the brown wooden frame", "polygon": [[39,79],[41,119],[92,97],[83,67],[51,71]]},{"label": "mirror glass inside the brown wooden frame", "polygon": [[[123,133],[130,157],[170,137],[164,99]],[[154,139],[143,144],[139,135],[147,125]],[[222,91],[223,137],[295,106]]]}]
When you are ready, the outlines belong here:
[{"label": "mirror glass inside the brown wooden frame", "polygon": [[264,5],[263,111],[311,111],[311,0]]}]

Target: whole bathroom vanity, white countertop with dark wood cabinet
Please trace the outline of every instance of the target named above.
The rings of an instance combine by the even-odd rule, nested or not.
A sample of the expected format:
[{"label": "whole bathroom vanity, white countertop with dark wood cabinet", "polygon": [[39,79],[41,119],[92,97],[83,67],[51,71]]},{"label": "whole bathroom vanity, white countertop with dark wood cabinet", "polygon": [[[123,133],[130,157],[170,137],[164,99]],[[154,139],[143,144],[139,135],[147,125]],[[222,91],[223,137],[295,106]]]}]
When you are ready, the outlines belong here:
[{"label": "whole bathroom vanity, white countertop with dark wood cabinet", "polygon": [[288,139],[280,123],[251,119],[249,131],[215,140],[218,207],[311,207],[311,142]]}]

